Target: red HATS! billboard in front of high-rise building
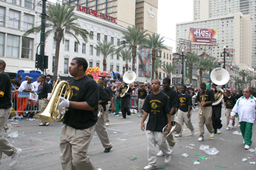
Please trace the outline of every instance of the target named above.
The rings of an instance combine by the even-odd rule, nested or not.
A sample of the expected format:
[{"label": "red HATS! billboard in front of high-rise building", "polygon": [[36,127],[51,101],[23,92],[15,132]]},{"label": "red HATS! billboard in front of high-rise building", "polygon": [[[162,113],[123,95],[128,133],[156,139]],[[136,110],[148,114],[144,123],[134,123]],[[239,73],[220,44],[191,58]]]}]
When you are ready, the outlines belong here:
[{"label": "red HATS! billboard in front of high-rise building", "polygon": [[216,45],[217,29],[190,28],[190,41],[192,44]]}]

